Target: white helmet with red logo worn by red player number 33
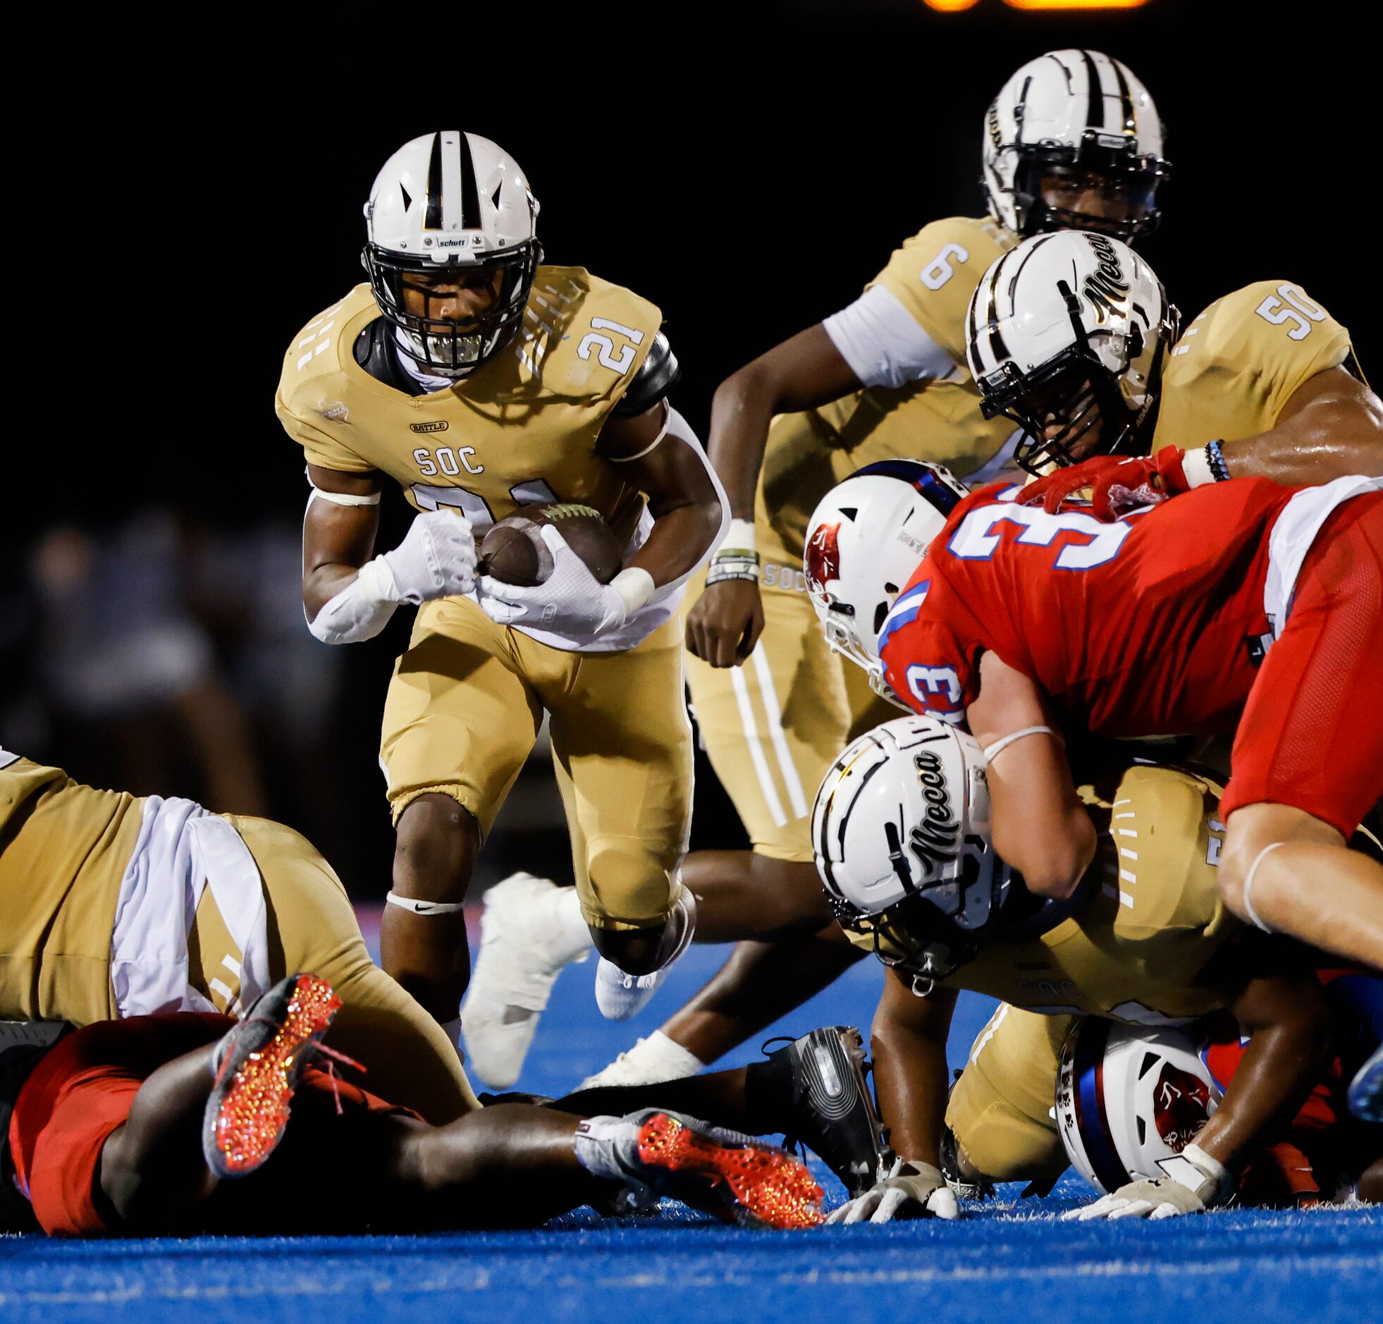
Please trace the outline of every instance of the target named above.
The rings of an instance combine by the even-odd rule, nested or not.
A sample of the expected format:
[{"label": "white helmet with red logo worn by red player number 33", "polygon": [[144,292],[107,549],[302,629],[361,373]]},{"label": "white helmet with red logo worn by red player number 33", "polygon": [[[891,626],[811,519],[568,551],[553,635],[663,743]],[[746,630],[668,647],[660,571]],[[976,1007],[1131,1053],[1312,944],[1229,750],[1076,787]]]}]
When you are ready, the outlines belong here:
[{"label": "white helmet with red logo worn by red player number 33", "polygon": [[[892,699],[878,631],[952,511],[969,495],[940,465],[881,459],[833,487],[806,526],[806,591],[837,653]],[[896,703],[896,700],[893,700]]]}]

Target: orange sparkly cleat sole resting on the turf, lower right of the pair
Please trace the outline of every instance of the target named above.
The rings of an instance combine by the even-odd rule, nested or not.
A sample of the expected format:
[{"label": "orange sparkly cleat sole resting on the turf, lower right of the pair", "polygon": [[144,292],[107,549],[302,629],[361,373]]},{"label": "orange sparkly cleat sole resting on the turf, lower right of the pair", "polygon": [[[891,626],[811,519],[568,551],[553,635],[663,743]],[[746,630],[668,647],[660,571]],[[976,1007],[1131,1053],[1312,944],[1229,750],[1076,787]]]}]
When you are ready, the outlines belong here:
[{"label": "orange sparkly cleat sole resting on the turf, lower right of the pair", "polygon": [[639,1119],[642,1180],[725,1223],[794,1230],[822,1222],[822,1188],[776,1146],[676,1112]]}]

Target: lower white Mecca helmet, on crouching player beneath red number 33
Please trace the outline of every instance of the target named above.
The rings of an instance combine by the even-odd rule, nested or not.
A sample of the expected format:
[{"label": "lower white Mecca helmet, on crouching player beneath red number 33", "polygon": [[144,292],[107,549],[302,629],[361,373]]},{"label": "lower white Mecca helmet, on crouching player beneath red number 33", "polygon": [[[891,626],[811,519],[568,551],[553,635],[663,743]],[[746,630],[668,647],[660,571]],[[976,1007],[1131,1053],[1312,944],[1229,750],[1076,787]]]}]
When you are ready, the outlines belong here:
[{"label": "lower white Mecca helmet, on crouching player beneath red number 33", "polygon": [[875,726],[831,764],[812,848],[841,926],[887,966],[940,980],[972,960],[1010,888],[990,843],[985,754],[931,717]]}]

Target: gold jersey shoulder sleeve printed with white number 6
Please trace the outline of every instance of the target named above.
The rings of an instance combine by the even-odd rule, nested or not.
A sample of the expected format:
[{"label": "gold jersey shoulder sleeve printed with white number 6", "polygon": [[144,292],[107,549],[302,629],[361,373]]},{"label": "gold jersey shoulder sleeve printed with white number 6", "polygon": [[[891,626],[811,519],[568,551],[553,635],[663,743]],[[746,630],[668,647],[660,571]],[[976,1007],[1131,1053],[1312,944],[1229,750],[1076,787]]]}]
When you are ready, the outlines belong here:
[{"label": "gold jersey shoulder sleeve printed with white number 6", "polygon": [[1017,242],[993,220],[952,216],[924,226],[870,281],[907,309],[952,361],[965,368],[965,311],[979,278]]}]

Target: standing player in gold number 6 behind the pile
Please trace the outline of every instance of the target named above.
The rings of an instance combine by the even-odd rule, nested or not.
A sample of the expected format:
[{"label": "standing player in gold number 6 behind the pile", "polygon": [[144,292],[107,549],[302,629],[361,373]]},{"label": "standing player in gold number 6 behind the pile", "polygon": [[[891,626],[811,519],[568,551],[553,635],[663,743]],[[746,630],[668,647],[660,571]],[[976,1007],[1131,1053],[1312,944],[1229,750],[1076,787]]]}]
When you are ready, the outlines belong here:
[{"label": "standing player in gold number 6 behind the pile", "polygon": [[[812,509],[875,461],[928,459],[972,483],[1004,468],[1014,429],[985,421],[964,365],[975,284],[1026,234],[1152,230],[1170,169],[1162,149],[1152,98],[1123,64],[1082,50],[1030,61],[985,119],[990,214],[922,227],[853,304],[716,392],[708,452],[734,519],[693,588],[687,681],[752,848],[687,859],[703,941],[770,939],[828,919],[810,867],[812,794],[842,746],[893,711],[816,628],[802,573]],[[700,1069],[839,968],[809,941],[801,959],[798,971],[787,948],[740,946],[693,1004],[625,1054],[611,1083]]]}]

